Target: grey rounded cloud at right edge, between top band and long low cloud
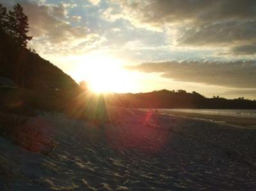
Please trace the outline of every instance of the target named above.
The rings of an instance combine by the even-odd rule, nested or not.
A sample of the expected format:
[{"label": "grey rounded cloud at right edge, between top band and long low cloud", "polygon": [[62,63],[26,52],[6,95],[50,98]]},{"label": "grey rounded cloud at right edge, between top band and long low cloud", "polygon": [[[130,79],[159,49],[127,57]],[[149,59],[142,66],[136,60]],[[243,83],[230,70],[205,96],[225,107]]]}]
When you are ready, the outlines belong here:
[{"label": "grey rounded cloud at right edge, between top band and long low cloud", "polygon": [[256,42],[256,20],[229,21],[192,28],[180,39],[184,45],[237,45]]}]

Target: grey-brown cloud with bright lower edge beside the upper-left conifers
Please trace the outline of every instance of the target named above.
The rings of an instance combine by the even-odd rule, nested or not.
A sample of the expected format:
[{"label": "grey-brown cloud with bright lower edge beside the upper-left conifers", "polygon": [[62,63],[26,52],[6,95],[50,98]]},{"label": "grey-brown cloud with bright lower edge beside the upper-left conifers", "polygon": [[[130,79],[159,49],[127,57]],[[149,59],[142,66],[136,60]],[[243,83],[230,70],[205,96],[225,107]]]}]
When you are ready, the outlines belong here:
[{"label": "grey-brown cloud with bright lower edge beside the upper-left conifers", "polygon": [[[91,33],[87,27],[73,26],[67,22],[67,11],[76,4],[56,6],[19,0],[8,3],[21,3],[24,13],[28,15],[29,34],[33,36],[30,45],[42,54],[83,52],[105,41],[98,34]],[[80,20],[80,17],[71,19]]]}]

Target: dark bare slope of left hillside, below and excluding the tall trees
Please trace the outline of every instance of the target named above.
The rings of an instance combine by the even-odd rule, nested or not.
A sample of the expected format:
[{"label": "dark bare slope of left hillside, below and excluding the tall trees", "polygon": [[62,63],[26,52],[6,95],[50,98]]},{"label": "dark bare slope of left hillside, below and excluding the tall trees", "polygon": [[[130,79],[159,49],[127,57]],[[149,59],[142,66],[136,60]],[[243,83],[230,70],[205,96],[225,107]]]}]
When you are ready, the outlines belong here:
[{"label": "dark bare slope of left hillside, below and excluding the tall trees", "polygon": [[0,31],[0,76],[12,79],[19,87],[56,91],[77,86],[60,68],[35,52],[17,45]]}]

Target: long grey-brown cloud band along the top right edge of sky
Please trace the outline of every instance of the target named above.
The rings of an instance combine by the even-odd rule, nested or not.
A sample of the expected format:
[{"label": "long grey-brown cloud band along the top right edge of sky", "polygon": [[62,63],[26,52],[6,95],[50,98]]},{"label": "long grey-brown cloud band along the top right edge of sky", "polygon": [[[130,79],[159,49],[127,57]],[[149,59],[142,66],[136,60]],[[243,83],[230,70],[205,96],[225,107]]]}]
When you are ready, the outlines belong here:
[{"label": "long grey-brown cloud band along the top right edge of sky", "polygon": [[[114,0],[115,1],[115,0]],[[254,0],[118,0],[121,7],[128,9],[141,22],[161,24],[192,20],[213,22],[219,20],[250,20],[256,16]],[[133,18],[134,19],[134,18]]]}]

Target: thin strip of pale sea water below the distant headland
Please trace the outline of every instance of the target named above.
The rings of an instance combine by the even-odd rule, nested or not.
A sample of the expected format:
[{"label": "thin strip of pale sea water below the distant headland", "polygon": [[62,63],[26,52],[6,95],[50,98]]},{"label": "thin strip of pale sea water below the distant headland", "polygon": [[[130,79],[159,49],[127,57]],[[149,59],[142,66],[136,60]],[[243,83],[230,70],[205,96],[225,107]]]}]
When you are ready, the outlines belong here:
[{"label": "thin strip of pale sea water below the distant headland", "polygon": [[158,112],[166,114],[172,111],[239,118],[256,118],[256,109],[158,109]]}]

